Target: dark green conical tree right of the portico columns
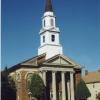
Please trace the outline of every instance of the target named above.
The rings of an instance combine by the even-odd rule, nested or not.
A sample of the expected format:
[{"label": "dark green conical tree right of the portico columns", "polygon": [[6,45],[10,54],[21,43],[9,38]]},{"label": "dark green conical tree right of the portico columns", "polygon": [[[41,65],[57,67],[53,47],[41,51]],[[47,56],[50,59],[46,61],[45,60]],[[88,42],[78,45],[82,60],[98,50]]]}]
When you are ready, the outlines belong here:
[{"label": "dark green conical tree right of the portico columns", "polygon": [[90,97],[90,91],[87,88],[85,82],[81,79],[76,87],[76,100],[87,100]]}]

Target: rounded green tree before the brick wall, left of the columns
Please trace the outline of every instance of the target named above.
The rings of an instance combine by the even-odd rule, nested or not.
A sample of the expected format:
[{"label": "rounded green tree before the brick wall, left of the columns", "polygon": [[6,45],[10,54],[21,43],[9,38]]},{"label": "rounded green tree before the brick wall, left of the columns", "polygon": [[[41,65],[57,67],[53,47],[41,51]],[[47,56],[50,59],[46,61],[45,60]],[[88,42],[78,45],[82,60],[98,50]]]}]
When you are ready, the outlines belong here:
[{"label": "rounded green tree before the brick wall, left of the columns", "polygon": [[45,90],[43,80],[38,74],[33,74],[31,77],[31,83],[29,86],[29,91],[32,94],[32,97],[39,99]]}]

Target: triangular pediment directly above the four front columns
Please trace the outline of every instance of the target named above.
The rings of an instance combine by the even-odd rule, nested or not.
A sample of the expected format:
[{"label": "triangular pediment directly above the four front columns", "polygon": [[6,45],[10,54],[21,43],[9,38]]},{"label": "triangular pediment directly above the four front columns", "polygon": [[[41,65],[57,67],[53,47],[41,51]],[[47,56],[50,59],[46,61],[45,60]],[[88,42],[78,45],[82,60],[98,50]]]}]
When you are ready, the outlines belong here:
[{"label": "triangular pediment directly above the four front columns", "polygon": [[51,64],[51,65],[66,65],[66,66],[78,66],[72,59],[64,56],[64,55],[56,55],[48,60],[46,60],[43,64]]}]

